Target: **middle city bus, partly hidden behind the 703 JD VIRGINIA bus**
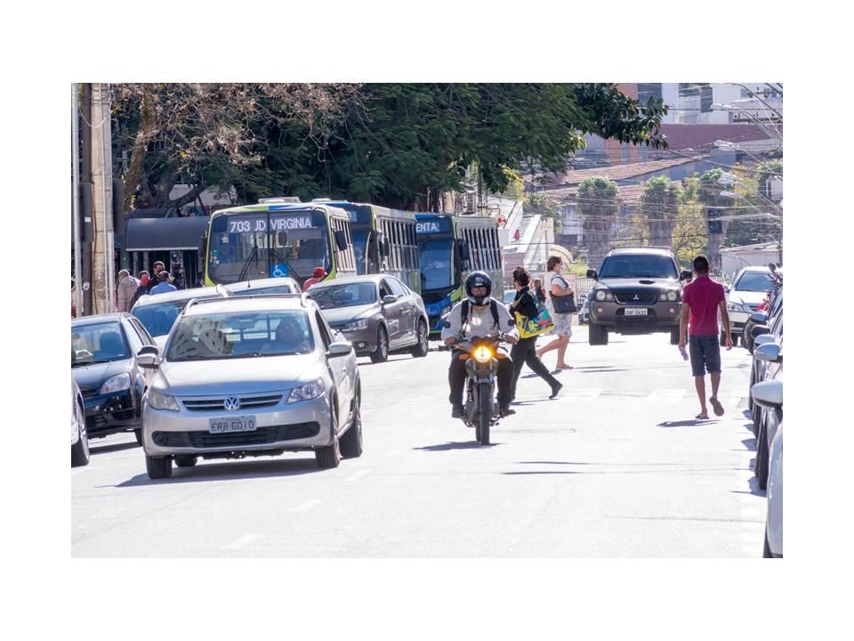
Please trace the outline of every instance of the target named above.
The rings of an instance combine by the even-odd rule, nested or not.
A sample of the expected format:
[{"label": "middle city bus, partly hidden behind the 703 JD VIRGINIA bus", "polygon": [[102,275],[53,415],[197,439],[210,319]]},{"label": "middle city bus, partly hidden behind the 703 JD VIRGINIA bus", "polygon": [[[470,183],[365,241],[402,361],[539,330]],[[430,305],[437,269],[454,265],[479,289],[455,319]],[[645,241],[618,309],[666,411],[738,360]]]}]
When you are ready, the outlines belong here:
[{"label": "middle city bus, partly hidden behind the 703 JD VIRGINIA bus", "polygon": [[346,200],[314,199],[350,215],[350,234],[359,274],[386,273],[421,293],[415,212]]}]

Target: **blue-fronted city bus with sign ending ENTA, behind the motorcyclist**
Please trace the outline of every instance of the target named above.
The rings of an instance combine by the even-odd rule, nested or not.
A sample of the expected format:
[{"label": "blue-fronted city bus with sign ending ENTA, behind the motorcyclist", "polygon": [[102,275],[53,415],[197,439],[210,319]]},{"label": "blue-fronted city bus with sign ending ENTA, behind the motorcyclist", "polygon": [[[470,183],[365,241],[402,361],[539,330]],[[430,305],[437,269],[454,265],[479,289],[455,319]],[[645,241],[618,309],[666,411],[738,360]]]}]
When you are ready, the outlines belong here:
[{"label": "blue-fronted city bus with sign ending ENTA, behind the motorcyclist", "polygon": [[492,296],[502,299],[504,270],[495,218],[416,214],[415,233],[421,266],[421,297],[430,319],[431,338],[463,297],[469,272],[487,272]]}]

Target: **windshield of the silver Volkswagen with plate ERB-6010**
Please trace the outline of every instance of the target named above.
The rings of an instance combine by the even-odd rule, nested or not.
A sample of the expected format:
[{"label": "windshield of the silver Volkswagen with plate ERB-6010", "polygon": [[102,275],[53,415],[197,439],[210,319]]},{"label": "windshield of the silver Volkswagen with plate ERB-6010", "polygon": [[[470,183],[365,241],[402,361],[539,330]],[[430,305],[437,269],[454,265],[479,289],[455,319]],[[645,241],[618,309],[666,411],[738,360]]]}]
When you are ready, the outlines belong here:
[{"label": "windshield of the silver Volkswagen with plate ERB-6010", "polygon": [[225,312],[183,316],[166,361],[216,361],[311,353],[314,339],[302,310]]}]

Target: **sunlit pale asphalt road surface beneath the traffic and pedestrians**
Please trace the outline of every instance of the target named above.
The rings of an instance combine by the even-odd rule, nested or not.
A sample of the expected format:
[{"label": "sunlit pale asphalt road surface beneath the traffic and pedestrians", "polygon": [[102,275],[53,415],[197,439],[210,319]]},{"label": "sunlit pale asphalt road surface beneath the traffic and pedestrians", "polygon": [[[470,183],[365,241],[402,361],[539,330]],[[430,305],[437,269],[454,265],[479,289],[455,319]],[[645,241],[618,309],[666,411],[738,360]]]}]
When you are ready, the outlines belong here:
[{"label": "sunlit pale asphalt road surface beneath the traffic and pedestrians", "polygon": [[567,358],[554,401],[523,370],[488,447],[450,418],[438,351],[360,359],[365,452],[334,470],[286,454],[154,482],[133,434],[93,441],[71,470],[71,555],[761,557],[745,350],[723,352],[726,414],[708,421],[665,334],[591,347],[580,328]]}]

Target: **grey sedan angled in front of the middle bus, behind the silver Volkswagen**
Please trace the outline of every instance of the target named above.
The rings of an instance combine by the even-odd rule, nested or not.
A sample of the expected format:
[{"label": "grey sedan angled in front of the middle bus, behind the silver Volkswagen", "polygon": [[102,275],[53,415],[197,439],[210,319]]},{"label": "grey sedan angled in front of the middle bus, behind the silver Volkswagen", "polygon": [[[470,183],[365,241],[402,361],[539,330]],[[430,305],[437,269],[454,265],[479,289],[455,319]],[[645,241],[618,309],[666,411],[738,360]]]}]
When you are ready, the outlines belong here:
[{"label": "grey sedan angled in front of the middle bus, behind the silver Volkswagen", "polygon": [[393,276],[366,274],[319,282],[308,292],[329,325],[360,356],[383,362],[390,352],[427,355],[427,312],[421,296]]}]

